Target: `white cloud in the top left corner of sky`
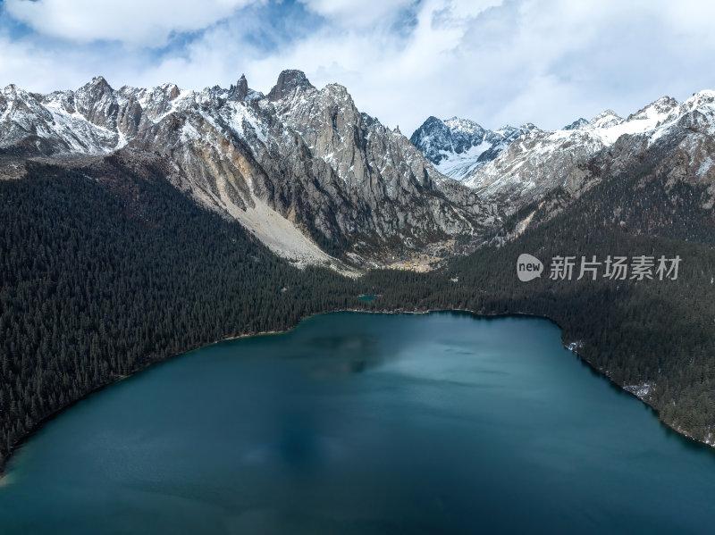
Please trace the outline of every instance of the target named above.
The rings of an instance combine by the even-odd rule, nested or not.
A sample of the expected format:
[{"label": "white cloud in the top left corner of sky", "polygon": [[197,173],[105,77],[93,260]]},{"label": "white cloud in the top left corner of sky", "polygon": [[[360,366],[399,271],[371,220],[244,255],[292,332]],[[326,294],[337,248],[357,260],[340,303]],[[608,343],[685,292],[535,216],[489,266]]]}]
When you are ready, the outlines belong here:
[{"label": "white cloud in the top left corner of sky", "polygon": [[39,33],[71,41],[163,46],[172,32],[205,29],[252,0],[5,0],[7,13]]}]

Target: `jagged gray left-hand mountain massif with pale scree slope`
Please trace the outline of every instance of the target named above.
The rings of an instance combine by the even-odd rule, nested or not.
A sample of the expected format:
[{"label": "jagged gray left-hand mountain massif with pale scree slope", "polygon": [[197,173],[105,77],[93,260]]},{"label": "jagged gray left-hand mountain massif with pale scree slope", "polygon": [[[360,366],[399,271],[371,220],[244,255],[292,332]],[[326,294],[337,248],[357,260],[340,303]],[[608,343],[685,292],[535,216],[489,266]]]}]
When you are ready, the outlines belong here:
[{"label": "jagged gray left-hand mountain massif with pale scree slope", "polygon": [[299,264],[337,264],[326,250],[380,262],[386,244],[420,249],[499,217],[398,130],[360,113],[346,88],[314,88],[301,71],[283,71],[267,96],[245,77],[203,91],[115,90],[101,77],[49,95],[4,88],[0,154],[117,151],[160,155],[176,187]]}]

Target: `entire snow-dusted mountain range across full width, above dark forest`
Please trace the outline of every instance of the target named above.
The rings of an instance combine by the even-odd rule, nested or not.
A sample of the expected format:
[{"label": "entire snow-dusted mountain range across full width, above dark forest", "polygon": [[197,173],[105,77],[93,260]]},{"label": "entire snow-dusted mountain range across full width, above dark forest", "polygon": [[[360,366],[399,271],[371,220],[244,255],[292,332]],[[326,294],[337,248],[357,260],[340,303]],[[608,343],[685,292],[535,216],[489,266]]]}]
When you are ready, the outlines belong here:
[{"label": "entire snow-dusted mountain range across full width, above dark forest", "polygon": [[372,265],[449,252],[453,238],[482,243],[551,192],[568,202],[644,162],[673,182],[704,184],[711,208],[714,154],[713,91],[553,131],[430,117],[411,141],[360,113],[346,88],[315,88],[301,71],[283,71],[267,95],[245,77],[201,91],[114,89],[97,77],[74,91],[0,93],[0,175],[20,176],[29,159],[151,165],[278,255],[341,269],[328,251]]}]

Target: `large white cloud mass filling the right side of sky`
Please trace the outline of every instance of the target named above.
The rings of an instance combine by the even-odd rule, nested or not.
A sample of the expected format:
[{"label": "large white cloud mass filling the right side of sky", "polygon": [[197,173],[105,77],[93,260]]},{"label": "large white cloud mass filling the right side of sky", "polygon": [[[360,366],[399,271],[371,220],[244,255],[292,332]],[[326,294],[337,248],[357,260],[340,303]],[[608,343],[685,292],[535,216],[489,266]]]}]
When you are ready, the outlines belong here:
[{"label": "large white cloud mass filling the right side of sky", "polygon": [[608,107],[627,115],[664,94],[682,99],[715,85],[704,67],[715,39],[702,22],[712,8],[691,3],[687,16],[674,17],[672,5],[434,0],[420,4],[407,40],[382,30],[338,38],[326,29],[248,72],[299,65],[314,83],[341,81],[359,106],[405,132],[430,114],[489,128],[559,128]]}]

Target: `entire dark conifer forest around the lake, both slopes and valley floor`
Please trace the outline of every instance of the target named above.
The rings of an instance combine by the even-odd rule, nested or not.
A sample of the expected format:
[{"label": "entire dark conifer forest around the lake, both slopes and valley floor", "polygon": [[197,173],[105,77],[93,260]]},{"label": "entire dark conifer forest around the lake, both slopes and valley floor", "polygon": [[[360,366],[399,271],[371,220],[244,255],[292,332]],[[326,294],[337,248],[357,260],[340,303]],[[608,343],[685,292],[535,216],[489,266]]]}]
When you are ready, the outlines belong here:
[{"label": "entire dark conifer forest around the lake, both slopes and valley floor", "polygon": [[[433,272],[349,279],[290,266],[161,170],[112,158],[101,172],[33,163],[25,179],[0,181],[0,465],[40,422],[128,373],[341,309],[549,317],[619,386],[656,385],[644,400],[660,419],[707,441],[715,431],[713,223],[700,208],[704,191],[674,192],[658,180],[640,188],[642,178],[603,181],[548,219],[527,207],[538,224],[522,236]],[[517,280],[522,253],[546,264],[541,278]],[[557,255],[682,262],[677,280],[551,280]],[[362,293],[378,297],[364,303]]]}]

